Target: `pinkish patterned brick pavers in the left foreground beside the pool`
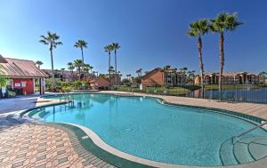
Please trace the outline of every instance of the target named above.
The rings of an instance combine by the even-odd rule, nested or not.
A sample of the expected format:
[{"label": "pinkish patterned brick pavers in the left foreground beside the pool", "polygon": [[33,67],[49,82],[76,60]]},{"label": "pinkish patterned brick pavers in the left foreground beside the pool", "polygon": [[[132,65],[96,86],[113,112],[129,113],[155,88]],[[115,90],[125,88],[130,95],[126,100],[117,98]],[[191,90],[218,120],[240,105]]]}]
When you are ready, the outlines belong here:
[{"label": "pinkish patterned brick pavers in the left foreground beside the pool", "polygon": [[0,167],[109,167],[57,125],[18,124],[0,118]]}]

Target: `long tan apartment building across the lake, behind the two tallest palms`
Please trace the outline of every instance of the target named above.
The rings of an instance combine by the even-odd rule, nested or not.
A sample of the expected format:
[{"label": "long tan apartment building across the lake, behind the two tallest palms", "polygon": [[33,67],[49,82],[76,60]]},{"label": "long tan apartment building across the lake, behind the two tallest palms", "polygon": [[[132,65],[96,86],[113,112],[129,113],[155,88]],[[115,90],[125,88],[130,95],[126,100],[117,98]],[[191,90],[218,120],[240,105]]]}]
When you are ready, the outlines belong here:
[{"label": "long tan apartment building across the lake, behind the two tallest palms", "polygon": [[[204,75],[204,84],[218,84],[219,73],[207,72]],[[260,84],[261,78],[249,72],[224,72],[223,84]],[[195,77],[195,84],[200,84],[200,76]]]}]

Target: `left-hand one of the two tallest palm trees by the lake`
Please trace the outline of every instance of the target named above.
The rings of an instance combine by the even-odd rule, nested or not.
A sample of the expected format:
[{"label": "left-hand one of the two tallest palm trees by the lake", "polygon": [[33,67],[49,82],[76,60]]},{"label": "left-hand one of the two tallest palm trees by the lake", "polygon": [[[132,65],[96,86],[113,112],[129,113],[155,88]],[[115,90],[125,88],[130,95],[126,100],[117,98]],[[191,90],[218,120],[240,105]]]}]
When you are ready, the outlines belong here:
[{"label": "left-hand one of the two tallest palm trees by the lake", "polygon": [[190,30],[187,32],[188,36],[198,36],[198,54],[199,54],[199,72],[200,84],[203,84],[204,64],[202,59],[202,36],[209,30],[208,20],[197,20],[190,24]]}]

